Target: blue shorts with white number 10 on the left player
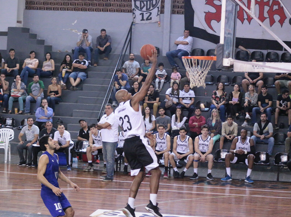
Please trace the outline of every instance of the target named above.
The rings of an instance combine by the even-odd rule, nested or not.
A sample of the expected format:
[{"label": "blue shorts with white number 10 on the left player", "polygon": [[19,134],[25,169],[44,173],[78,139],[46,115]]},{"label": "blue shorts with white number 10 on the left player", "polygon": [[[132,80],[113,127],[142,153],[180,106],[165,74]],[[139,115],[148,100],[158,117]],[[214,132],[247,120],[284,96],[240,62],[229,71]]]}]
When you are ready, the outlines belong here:
[{"label": "blue shorts with white number 10 on the left player", "polygon": [[42,187],[40,196],[53,217],[65,216],[65,210],[72,207],[64,193],[58,197],[50,188]]}]

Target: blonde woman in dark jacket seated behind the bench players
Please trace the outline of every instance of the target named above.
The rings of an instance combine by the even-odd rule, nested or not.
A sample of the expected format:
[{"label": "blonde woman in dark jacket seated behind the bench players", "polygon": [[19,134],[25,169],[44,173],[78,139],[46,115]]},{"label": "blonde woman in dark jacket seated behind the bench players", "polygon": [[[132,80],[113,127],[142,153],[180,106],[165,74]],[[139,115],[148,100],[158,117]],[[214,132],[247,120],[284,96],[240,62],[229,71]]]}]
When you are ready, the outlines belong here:
[{"label": "blonde woman in dark jacket seated behind the bench players", "polygon": [[215,142],[220,138],[222,128],[222,122],[219,118],[219,113],[217,109],[213,109],[211,111],[211,117],[207,119],[206,124],[209,129],[208,134],[213,139],[214,145]]}]

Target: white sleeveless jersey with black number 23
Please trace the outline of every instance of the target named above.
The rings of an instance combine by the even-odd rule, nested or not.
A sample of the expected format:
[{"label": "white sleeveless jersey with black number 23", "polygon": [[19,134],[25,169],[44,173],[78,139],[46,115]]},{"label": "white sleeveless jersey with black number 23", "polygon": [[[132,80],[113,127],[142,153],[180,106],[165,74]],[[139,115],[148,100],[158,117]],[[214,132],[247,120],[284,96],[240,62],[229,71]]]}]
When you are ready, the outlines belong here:
[{"label": "white sleeveless jersey with black number 23", "polygon": [[145,137],[145,122],[138,106],[139,111],[136,112],[131,107],[131,100],[120,102],[115,109],[114,115],[120,127],[122,127],[125,139],[130,136]]}]

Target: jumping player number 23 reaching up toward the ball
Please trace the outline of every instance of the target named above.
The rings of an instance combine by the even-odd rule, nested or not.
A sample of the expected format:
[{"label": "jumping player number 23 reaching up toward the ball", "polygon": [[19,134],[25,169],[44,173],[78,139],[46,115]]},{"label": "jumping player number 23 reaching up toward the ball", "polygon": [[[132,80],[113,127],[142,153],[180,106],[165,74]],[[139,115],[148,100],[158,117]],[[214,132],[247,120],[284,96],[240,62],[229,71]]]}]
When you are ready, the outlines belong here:
[{"label": "jumping player number 23 reaching up toward the ball", "polygon": [[[152,51],[152,56],[147,57],[152,62],[151,68],[156,69],[157,51]],[[145,138],[145,123],[139,105],[139,102],[146,97],[154,76],[155,70],[150,70],[144,85],[134,96],[131,96],[131,93],[125,89],[118,90],[115,95],[119,106],[115,109],[114,116],[124,131],[124,154],[129,161],[130,174],[135,176],[130,187],[128,204],[122,210],[127,217],[135,217],[134,201],[138,188],[144,179],[144,167],[152,174],[149,184],[150,202],[146,206],[146,210],[156,217],[162,217],[157,206],[157,193],[162,172],[159,168],[157,156]],[[146,136],[152,137],[151,133],[146,133]]]}]

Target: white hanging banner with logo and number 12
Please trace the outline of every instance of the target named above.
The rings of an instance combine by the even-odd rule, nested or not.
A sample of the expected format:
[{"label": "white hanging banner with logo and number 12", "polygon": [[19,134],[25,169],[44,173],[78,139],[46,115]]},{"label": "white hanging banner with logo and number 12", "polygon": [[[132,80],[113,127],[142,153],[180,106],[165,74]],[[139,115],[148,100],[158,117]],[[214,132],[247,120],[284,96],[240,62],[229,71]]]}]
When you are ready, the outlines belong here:
[{"label": "white hanging banner with logo and number 12", "polygon": [[132,0],[132,15],[135,23],[160,21],[161,0]]}]

